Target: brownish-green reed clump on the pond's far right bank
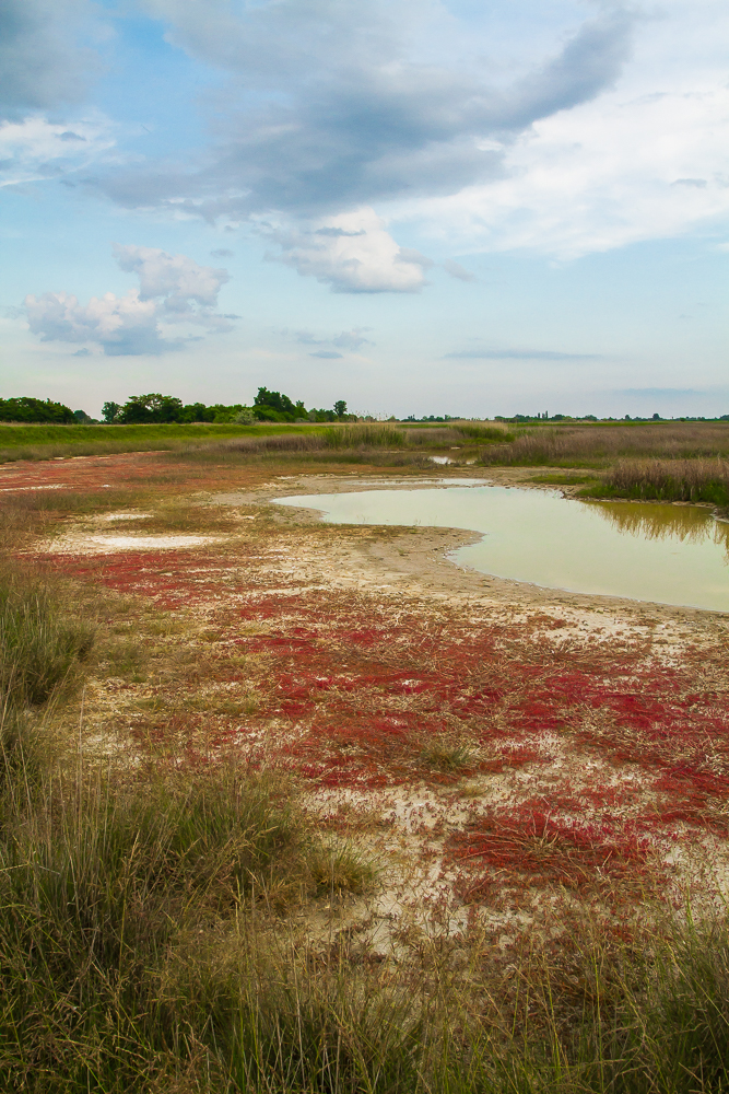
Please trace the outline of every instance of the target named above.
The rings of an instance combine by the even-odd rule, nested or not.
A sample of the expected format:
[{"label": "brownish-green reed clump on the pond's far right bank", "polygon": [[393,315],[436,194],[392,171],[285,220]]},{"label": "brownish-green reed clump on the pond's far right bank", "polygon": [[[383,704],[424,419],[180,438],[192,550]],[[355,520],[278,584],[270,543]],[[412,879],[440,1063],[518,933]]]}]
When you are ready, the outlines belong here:
[{"label": "brownish-green reed clump on the pond's far right bank", "polygon": [[621,459],[603,476],[593,496],[645,501],[704,501],[729,505],[729,463],[725,459]]}]

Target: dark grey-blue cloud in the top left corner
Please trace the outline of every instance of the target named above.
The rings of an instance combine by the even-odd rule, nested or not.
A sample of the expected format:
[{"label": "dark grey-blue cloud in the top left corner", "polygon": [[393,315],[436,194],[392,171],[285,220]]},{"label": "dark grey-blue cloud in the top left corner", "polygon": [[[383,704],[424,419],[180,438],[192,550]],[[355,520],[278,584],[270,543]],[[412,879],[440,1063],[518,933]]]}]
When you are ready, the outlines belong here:
[{"label": "dark grey-blue cloud in the top left corner", "polygon": [[96,18],[87,0],[3,0],[0,4],[0,117],[78,102],[97,68],[79,44]]}]

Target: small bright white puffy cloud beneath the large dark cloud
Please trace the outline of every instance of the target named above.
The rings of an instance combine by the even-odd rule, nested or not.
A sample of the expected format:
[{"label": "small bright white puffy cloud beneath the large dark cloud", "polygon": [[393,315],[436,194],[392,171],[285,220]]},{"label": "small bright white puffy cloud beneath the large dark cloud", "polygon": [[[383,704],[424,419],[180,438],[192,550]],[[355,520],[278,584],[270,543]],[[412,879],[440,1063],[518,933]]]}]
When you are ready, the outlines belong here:
[{"label": "small bright white puffy cloud beneath the large dark cloud", "polygon": [[307,231],[263,231],[282,248],[278,260],[334,292],[419,292],[427,283],[423,270],[433,265],[399,247],[369,208],[315,222]]}]

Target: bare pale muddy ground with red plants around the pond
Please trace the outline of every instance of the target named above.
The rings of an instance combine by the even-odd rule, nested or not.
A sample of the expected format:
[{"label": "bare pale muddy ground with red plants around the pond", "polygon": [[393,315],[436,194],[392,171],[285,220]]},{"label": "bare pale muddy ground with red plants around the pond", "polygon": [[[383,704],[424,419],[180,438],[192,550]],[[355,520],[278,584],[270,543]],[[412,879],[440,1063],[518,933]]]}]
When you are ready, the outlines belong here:
[{"label": "bare pale muddy ground with red plants around the pond", "polygon": [[[148,453],[3,468],[7,492],[129,494],[22,552],[105,605],[109,654],[68,715],[87,754],[289,771],[332,848],[378,863],[375,889],[337,912],[368,952],[474,918],[508,945],[537,920],[560,932],[720,897],[729,617],[463,570],[447,557],[462,531],[271,504],[400,480],[425,482],[192,474]],[[307,910],[313,935],[331,934],[330,905]]]}]

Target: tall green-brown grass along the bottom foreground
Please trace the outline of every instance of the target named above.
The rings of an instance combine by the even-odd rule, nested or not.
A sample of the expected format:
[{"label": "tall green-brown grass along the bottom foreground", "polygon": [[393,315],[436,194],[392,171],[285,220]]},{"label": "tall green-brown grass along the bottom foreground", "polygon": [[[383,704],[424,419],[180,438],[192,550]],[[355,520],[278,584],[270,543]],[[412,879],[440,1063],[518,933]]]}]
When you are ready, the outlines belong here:
[{"label": "tall green-brown grass along the bottom foreground", "polygon": [[477,931],[383,962],[287,922],[313,846],[264,776],[48,781],[0,843],[1,1089],[726,1089],[725,922],[622,943],[573,923],[501,963]]}]

